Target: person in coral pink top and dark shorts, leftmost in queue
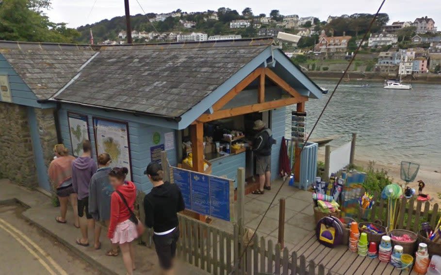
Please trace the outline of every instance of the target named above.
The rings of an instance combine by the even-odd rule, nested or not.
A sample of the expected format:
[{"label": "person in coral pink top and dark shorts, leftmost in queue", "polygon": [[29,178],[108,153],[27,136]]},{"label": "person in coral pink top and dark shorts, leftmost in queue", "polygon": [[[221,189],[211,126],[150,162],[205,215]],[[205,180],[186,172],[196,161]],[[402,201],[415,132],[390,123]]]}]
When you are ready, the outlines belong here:
[{"label": "person in coral pink top and dark shorts, leftmost in queue", "polygon": [[72,186],[72,162],[73,156],[69,155],[69,150],[63,144],[54,146],[54,160],[49,165],[49,178],[52,181],[58,200],[60,201],[61,216],[55,220],[58,223],[66,223],[67,203],[70,201],[74,212],[74,226],[80,228],[77,208],[77,194]]}]

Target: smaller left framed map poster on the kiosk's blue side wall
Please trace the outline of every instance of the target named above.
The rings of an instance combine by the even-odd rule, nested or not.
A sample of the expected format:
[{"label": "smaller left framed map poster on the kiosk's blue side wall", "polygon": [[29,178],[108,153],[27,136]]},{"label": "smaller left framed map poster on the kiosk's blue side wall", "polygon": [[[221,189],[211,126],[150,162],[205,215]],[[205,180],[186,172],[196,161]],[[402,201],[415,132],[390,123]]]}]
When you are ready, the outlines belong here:
[{"label": "smaller left framed map poster on the kiosk's blue side wall", "polygon": [[87,116],[79,113],[67,112],[67,123],[69,125],[72,155],[80,157],[83,153],[82,142],[84,140],[90,140]]}]

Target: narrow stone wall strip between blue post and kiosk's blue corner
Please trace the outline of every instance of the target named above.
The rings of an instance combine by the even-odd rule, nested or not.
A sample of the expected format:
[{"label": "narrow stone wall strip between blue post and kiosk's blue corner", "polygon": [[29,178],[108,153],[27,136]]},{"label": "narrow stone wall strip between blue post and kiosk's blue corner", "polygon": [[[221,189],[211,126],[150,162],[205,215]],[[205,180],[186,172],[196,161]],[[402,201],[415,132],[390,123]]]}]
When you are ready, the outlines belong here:
[{"label": "narrow stone wall strip between blue post and kiosk's blue corner", "polygon": [[46,167],[53,160],[53,148],[57,142],[57,129],[55,127],[54,109],[35,108],[35,116],[40,133],[40,142],[43,149],[43,158]]}]

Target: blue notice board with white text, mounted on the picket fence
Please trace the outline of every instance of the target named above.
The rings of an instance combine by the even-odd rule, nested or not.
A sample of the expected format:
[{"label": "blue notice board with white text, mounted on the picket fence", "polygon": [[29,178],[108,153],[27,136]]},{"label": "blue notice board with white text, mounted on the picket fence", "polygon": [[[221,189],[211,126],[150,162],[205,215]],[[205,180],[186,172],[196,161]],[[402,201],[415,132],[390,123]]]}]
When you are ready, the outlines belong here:
[{"label": "blue notice board with white text, mounted on the picket fence", "polygon": [[173,167],[185,208],[226,221],[234,220],[234,183],[220,178]]}]

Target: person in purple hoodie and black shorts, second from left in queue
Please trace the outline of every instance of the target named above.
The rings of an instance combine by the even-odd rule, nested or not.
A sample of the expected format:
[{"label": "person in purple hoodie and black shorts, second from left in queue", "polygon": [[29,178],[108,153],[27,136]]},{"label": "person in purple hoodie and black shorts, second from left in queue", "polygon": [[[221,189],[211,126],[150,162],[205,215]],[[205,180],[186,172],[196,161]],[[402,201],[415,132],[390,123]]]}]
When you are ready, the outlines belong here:
[{"label": "person in purple hoodie and black shorts, second from left in queue", "polygon": [[81,157],[72,162],[72,187],[78,194],[78,216],[82,217],[85,214],[87,218],[87,223],[80,219],[82,238],[77,239],[77,244],[89,246],[88,227],[91,227],[95,228],[95,249],[99,249],[101,227],[95,226],[95,221],[89,214],[89,184],[93,174],[97,172],[97,163],[91,158],[92,146],[89,140],[83,141],[82,149]]}]

